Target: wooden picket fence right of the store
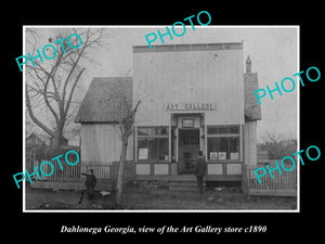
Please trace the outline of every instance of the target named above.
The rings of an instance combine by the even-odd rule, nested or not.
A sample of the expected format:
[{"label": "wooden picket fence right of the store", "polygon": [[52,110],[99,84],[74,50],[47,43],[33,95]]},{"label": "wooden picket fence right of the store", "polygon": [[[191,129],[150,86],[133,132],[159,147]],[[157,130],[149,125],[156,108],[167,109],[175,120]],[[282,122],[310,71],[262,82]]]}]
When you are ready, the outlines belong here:
[{"label": "wooden picket fence right of the store", "polygon": [[[257,179],[255,170],[264,168],[266,174]],[[269,166],[271,169],[275,167],[274,164]],[[290,168],[288,166],[286,168]],[[272,171],[273,178],[269,174],[266,166],[262,165],[243,165],[243,189],[249,195],[297,195],[297,169],[285,171],[281,168],[282,175],[278,170]],[[259,174],[261,174],[260,171]]]}]

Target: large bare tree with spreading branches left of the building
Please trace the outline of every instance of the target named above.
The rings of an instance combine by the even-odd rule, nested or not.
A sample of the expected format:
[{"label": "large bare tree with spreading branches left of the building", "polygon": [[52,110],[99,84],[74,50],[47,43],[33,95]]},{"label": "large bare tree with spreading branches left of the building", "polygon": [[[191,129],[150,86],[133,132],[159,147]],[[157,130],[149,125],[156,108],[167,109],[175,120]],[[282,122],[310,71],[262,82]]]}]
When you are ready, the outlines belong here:
[{"label": "large bare tree with spreading branches left of the building", "polygon": [[[70,34],[78,34],[78,38],[70,38],[68,46],[67,36],[60,34],[55,37],[56,55],[51,48],[46,49],[47,56],[54,56],[52,60],[44,60],[42,63],[34,60],[34,65],[28,62],[26,67],[26,106],[30,119],[40,127],[46,133],[54,139],[53,146],[60,147],[63,141],[63,134],[70,117],[70,107],[74,100],[74,93],[77,85],[84,72],[80,65],[82,60],[88,60],[88,51],[101,46],[103,29],[68,29]],[[26,30],[27,43],[31,49],[31,56],[35,56],[37,50],[38,34],[36,29]],[[64,38],[64,39],[63,39]],[[52,42],[52,38],[49,38]],[[52,51],[52,53],[50,53]],[[49,126],[44,118],[39,116],[36,111],[47,111],[52,115],[54,121],[53,128]],[[38,115],[37,115],[38,114]]]}]

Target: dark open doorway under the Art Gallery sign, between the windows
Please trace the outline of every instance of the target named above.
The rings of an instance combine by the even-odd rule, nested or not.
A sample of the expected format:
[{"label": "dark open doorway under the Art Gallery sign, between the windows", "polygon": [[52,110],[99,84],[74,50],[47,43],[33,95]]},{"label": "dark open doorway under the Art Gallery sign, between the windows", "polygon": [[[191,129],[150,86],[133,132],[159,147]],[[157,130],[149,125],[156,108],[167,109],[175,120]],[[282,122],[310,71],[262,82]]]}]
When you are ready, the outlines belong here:
[{"label": "dark open doorway under the Art Gallery sign, between the windows", "polygon": [[199,128],[179,129],[178,174],[193,174],[199,151]]}]

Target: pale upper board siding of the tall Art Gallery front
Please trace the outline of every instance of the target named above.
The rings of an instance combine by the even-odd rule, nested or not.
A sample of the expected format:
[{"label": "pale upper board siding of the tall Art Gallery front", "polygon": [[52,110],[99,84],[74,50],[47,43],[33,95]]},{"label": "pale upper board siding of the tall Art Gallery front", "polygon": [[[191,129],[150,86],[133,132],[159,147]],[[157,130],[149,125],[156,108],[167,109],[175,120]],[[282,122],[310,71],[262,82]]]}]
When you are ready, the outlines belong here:
[{"label": "pale upper board siding of the tall Art Gallery front", "polygon": [[206,125],[244,124],[242,49],[135,52],[133,70],[138,125],[169,125],[168,103],[217,103]]}]

